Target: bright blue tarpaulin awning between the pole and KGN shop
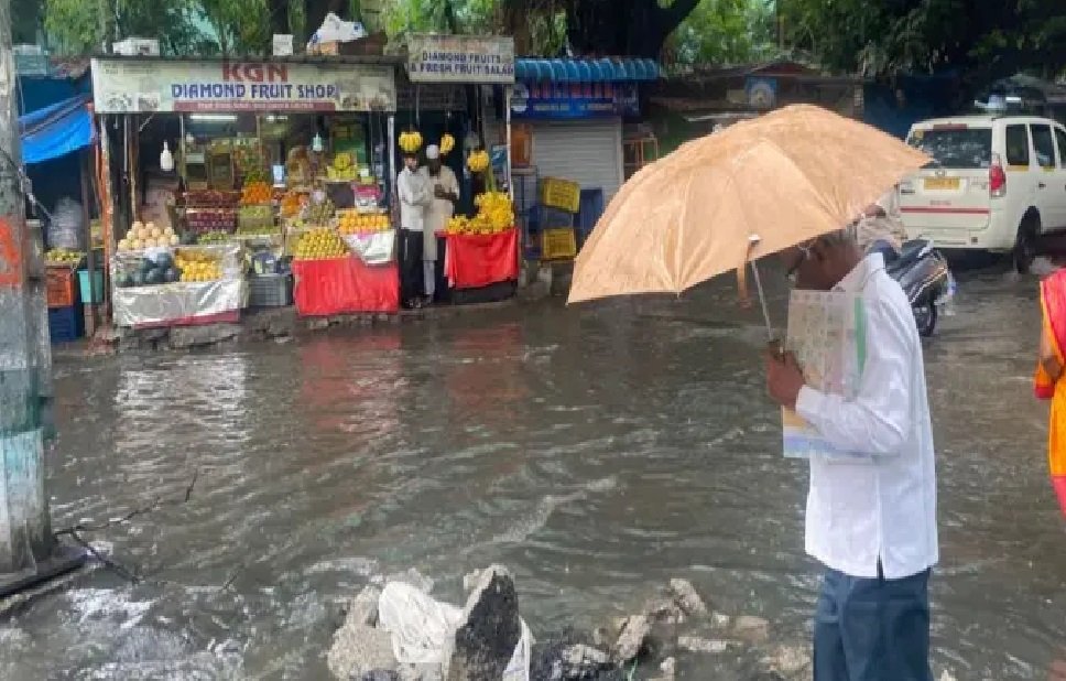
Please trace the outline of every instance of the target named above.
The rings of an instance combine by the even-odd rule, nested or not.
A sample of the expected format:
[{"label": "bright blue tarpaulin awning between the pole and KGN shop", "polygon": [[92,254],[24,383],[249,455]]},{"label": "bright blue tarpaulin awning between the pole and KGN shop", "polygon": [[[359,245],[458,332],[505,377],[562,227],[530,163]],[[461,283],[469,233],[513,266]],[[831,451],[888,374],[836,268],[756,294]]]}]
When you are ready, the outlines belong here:
[{"label": "bright blue tarpaulin awning between the pole and KGN shop", "polygon": [[19,117],[22,162],[51,161],[93,143],[89,98],[73,97]]}]

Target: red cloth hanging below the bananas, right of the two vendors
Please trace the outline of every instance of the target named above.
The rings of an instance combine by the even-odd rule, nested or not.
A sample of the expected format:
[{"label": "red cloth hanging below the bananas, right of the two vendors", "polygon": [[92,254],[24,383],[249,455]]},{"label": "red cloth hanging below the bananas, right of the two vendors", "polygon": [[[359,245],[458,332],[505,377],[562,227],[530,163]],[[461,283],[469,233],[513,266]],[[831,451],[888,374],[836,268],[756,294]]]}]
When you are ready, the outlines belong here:
[{"label": "red cloth hanging below the bananas, right of the two vendors", "polygon": [[519,230],[493,235],[449,234],[444,257],[453,289],[479,289],[519,277]]}]

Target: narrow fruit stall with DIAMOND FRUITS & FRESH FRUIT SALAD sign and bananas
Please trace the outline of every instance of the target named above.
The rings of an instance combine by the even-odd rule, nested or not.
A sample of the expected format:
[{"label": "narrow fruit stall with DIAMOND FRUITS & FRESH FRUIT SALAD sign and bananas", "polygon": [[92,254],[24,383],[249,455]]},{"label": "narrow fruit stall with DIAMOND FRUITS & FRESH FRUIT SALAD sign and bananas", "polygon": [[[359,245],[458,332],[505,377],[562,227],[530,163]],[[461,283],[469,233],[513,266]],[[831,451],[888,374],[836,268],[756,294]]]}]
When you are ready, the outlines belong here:
[{"label": "narrow fruit stall with DIAMOND FRUITS & FRESH FRUIT SALAD sign and bananas", "polygon": [[398,76],[399,145],[411,152],[438,144],[461,186],[455,217],[438,235],[437,290],[447,290],[454,303],[509,296],[519,271],[510,150],[508,138],[490,136],[486,121],[492,102],[507,110],[514,41],[411,34],[404,54]]}]

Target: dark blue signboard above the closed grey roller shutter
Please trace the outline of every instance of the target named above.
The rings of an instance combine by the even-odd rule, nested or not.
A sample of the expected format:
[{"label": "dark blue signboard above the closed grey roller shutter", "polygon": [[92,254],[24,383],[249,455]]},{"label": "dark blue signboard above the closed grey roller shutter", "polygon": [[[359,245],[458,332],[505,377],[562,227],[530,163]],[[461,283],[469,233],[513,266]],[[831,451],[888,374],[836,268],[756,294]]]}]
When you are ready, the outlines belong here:
[{"label": "dark blue signboard above the closed grey roller shutter", "polygon": [[519,83],[511,116],[522,120],[576,120],[638,116],[634,83]]}]

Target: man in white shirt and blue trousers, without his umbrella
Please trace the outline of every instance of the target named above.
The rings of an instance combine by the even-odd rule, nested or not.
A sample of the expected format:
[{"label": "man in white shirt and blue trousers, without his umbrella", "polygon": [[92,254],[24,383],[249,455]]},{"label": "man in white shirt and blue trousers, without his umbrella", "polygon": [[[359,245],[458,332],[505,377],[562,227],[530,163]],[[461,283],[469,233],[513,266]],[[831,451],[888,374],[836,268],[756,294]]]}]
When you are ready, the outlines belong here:
[{"label": "man in white shirt and blue trousers, without his umbrella", "polygon": [[866,361],[853,399],[806,385],[771,350],[766,386],[846,461],[811,457],[806,550],[826,566],[815,613],[815,681],[929,681],[936,475],[922,344],[906,295],[856,227],[782,257],[796,287],[861,296]]}]

